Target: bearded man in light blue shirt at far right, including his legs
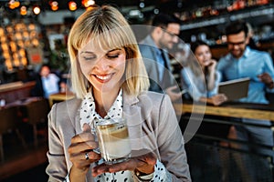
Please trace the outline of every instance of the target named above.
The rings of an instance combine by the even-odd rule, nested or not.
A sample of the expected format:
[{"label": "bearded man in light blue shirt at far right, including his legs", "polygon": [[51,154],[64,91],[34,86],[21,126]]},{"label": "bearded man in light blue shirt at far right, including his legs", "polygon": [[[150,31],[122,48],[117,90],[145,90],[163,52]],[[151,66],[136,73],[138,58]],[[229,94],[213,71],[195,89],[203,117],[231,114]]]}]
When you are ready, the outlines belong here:
[{"label": "bearded man in light blue shirt at far right, including his legs", "polygon": [[[274,93],[274,68],[271,56],[267,52],[251,49],[248,46],[248,26],[246,22],[237,21],[226,28],[227,35],[227,49],[228,54],[220,58],[217,70],[221,73],[222,80],[233,80],[241,77],[249,77],[250,83],[248,86],[248,96],[241,98],[239,102],[268,104],[269,100],[266,98],[266,92]],[[240,118],[237,119],[241,123],[263,125],[267,127],[258,126],[236,126],[237,138],[246,141],[247,144],[266,145],[273,147],[273,134],[270,129],[270,121],[255,120]],[[273,150],[266,147],[258,147],[252,145],[239,145],[238,147],[248,150],[249,154],[260,154],[273,157]],[[269,164],[266,159],[255,162],[254,158],[245,158],[247,155],[237,158],[242,160],[243,170],[248,169],[248,181],[266,181],[264,172],[269,172]],[[248,160],[249,159],[249,160]],[[257,160],[256,159],[256,160]],[[273,160],[274,158],[272,158]],[[249,163],[249,164],[248,164]],[[258,164],[257,168],[252,167]],[[240,162],[238,162],[240,164]],[[261,172],[258,172],[258,168]],[[267,173],[266,173],[267,174]]]}]

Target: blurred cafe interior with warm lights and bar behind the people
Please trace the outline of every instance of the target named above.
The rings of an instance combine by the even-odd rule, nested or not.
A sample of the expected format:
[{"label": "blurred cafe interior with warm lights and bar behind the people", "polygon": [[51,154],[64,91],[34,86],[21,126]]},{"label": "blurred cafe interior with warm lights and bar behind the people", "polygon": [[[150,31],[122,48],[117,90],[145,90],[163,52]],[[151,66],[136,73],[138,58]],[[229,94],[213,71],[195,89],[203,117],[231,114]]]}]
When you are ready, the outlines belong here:
[{"label": "blurred cafe interior with warm lights and bar behind the people", "polygon": [[[119,8],[132,25],[149,25],[153,15],[174,14],[182,20],[183,47],[197,39],[210,45],[218,61],[227,55],[225,26],[245,20],[253,28],[258,50],[274,60],[273,0],[3,0],[0,1],[0,181],[47,181],[47,114],[55,103],[74,96],[69,84],[69,57],[66,41],[71,25],[90,5],[110,4]],[[137,40],[143,35],[136,35]],[[170,50],[173,52],[174,50]],[[172,60],[174,77],[180,83],[182,64]],[[37,74],[42,65],[50,66],[64,85],[58,92],[36,96]],[[174,104],[184,134],[192,180],[250,181],[240,162],[260,158],[261,181],[274,181],[273,156],[250,153],[245,149],[222,146],[222,142],[262,147],[274,154],[274,146],[227,139],[208,133],[188,135],[190,123],[246,125],[239,118],[269,120],[274,132],[274,94],[269,104],[227,102],[221,106],[195,103],[183,97]],[[231,118],[234,118],[231,121]],[[261,128],[266,126],[253,125]],[[222,132],[216,129],[214,132]],[[220,166],[223,161],[225,167]],[[225,162],[224,162],[225,161]],[[245,162],[245,161],[244,161]],[[226,168],[224,170],[224,168]]]}]

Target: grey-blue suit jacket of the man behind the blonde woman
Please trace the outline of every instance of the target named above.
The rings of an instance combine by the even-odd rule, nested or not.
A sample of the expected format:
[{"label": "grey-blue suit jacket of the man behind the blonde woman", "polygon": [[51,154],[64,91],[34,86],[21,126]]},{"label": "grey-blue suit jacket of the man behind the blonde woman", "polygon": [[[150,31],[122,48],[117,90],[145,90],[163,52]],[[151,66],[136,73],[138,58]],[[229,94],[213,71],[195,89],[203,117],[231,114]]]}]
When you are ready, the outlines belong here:
[{"label": "grey-blue suit jacket of the man behind the blonde woman", "polygon": [[163,80],[159,80],[159,71],[157,66],[155,45],[151,35],[147,35],[140,43],[139,48],[142,54],[144,66],[150,78],[150,90],[155,92],[163,92],[163,89],[173,86],[175,83],[174,76],[172,74],[170,59],[167,50],[163,50],[163,57],[166,60],[167,69],[169,74]]}]

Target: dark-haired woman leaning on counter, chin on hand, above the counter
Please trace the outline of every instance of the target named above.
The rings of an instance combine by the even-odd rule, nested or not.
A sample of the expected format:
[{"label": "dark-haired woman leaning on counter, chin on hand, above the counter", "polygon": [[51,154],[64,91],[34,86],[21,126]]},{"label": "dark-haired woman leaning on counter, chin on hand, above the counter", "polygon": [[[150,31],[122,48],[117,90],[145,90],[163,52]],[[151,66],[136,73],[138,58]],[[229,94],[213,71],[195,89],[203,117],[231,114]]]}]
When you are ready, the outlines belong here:
[{"label": "dark-haired woman leaning on counter, chin on hand, above the counter", "polygon": [[183,88],[188,90],[195,101],[221,105],[227,101],[227,96],[217,94],[220,76],[209,46],[203,41],[197,41],[191,45],[191,50],[195,58],[190,59],[181,71]]}]

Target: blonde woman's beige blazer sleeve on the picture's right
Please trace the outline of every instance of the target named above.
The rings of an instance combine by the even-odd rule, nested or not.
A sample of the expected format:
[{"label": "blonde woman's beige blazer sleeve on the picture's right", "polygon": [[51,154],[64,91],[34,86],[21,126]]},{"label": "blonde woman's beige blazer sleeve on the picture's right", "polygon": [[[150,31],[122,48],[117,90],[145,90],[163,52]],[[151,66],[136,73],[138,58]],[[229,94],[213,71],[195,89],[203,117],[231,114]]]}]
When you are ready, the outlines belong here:
[{"label": "blonde woman's beige blazer sleeve on the picture's right", "polygon": [[159,112],[157,143],[161,162],[170,173],[171,181],[191,181],[184,138],[178,125],[174,106],[169,96],[164,95]]}]

